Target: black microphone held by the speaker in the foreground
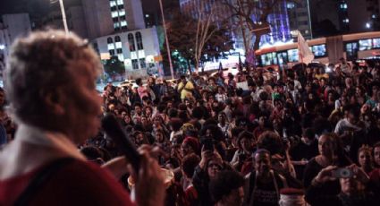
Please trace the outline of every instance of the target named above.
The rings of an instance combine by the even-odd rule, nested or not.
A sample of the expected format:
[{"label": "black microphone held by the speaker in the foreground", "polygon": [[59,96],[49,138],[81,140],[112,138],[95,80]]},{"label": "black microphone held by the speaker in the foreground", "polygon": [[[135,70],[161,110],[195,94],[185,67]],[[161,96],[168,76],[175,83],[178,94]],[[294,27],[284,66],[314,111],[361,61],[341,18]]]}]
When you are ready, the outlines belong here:
[{"label": "black microphone held by the speaker in the foreground", "polygon": [[124,154],[125,158],[131,162],[131,166],[136,173],[139,172],[140,155],[135,146],[131,142],[127,133],[122,129],[122,124],[112,114],[106,114],[102,119],[102,127],[114,142],[120,151]]}]

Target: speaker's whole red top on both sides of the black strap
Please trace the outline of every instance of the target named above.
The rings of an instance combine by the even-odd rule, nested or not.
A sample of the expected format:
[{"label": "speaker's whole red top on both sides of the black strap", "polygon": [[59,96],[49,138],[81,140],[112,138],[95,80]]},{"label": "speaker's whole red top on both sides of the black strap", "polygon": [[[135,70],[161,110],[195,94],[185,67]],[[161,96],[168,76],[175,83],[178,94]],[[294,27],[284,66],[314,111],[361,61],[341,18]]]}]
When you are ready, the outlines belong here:
[{"label": "speaker's whole red top on both sides of the black strap", "polygon": [[[0,180],[0,205],[13,205],[42,168]],[[80,160],[60,168],[33,196],[29,205],[134,205],[106,169]]]}]

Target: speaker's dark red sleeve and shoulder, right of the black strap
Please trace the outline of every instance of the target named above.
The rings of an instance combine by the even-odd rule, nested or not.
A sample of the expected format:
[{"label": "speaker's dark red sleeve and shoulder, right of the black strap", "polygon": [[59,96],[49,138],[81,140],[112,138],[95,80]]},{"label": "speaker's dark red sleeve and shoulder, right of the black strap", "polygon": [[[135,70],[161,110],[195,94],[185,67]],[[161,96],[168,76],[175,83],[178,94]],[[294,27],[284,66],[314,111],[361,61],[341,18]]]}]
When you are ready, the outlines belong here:
[{"label": "speaker's dark red sleeve and shoulder, right of the black strap", "polygon": [[75,161],[41,187],[31,205],[134,205],[105,169]]}]

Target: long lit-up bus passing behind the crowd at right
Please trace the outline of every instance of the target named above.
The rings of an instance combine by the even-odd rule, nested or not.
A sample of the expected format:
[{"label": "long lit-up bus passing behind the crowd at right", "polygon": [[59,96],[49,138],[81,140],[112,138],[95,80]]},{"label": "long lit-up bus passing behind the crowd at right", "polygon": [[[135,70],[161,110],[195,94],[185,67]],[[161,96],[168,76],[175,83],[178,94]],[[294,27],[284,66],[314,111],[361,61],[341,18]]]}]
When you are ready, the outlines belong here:
[{"label": "long lit-up bus passing behind the crowd at right", "polygon": [[[380,31],[310,39],[307,42],[314,53],[314,61],[321,64],[335,64],[342,57],[348,61],[380,58]],[[258,66],[262,67],[278,65],[289,68],[299,62],[297,42],[260,48],[255,55]]]}]

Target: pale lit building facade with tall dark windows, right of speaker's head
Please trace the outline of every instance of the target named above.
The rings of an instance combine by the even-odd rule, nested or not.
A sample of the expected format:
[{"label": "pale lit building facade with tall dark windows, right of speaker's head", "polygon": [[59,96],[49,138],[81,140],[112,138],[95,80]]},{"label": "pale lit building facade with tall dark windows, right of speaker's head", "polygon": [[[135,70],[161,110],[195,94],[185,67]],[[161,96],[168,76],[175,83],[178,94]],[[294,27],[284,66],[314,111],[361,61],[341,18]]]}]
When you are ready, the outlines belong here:
[{"label": "pale lit building facade with tall dark windows, right of speaker's head", "polygon": [[102,60],[117,56],[125,65],[127,78],[154,73],[160,56],[156,27],[130,30],[93,40]]}]

